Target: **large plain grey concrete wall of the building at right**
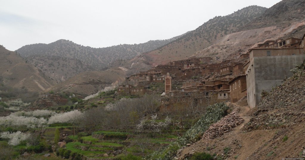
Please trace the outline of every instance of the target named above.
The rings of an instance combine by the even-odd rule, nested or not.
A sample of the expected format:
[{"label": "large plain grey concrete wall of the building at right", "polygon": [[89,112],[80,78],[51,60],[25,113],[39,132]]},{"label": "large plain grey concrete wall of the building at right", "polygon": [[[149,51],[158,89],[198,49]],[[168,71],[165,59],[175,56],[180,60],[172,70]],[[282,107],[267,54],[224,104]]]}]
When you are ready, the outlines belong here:
[{"label": "large plain grey concrete wall of the building at right", "polygon": [[246,71],[249,107],[258,105],[263,89],[269,92],[272,86],[280,85],[286,77],[292,76],[290,69],[304,59],[305,55],[253,57]]}]

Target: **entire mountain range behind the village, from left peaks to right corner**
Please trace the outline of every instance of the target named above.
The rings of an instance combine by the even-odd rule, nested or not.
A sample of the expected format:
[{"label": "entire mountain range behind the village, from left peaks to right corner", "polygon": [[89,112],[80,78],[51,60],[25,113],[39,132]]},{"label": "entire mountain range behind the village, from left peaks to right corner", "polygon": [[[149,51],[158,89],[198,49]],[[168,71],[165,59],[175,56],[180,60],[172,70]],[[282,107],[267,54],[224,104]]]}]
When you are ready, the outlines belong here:
[{"label": "entire mountain range behind the village, from left peaks to right corner", "polygon": [[[68,91],[66,86],[77,84],[81,88],[86,80],[92,83],[85,85],[100,85],[95,86],[100,89],[101,85],[124,80],[125,76],[170,61],[206,56],[215,61],[235,60],[266,40],[300,38],[305,32],[304,4],[305,0],[283,0],[269,9],[248,6],[227,16],[216,16],[195,30],[168,40],[106,48],[58,40],[50,44],[26,45],[16,50],[17,53],[11,53],[21,55],[23,59],[20,56],[19,59],[23,63],[42,75],[41,78],[48,82],[42,87],[44,89],[49,86],[55,91]],[[2,71],[2,77],[4,75],[9,84],[8,74]],[[16,84],[12,83],[20,87]],[[92,93],[89,90],[95,91],[93,88],[84,94]],[[70,91],[82,92],[81,89],[71,90],[71,87]]]}]

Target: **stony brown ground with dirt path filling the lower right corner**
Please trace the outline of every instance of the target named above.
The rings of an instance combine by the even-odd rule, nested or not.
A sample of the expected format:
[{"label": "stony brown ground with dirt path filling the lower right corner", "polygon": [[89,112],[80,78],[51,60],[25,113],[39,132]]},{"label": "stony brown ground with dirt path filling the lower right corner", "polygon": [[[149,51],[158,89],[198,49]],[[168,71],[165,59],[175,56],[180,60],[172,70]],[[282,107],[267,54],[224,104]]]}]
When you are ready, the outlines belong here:
[{"label": "stony brown ground with dirt path filling the lower right corner", "polygon": [[[305,158],[305,76],[289,78],[266,93],[257,108],[250,109],[246,98],[230,108],[231,114],[210,126],[201,140],[182,149],[176,159],[194,152],[215,153],[228,160]],[[233,115],[244,122],[232,127],[228,121],[234,121]],[[223,129],[225,124],[231,129],[218,136],[216,127]]]}]

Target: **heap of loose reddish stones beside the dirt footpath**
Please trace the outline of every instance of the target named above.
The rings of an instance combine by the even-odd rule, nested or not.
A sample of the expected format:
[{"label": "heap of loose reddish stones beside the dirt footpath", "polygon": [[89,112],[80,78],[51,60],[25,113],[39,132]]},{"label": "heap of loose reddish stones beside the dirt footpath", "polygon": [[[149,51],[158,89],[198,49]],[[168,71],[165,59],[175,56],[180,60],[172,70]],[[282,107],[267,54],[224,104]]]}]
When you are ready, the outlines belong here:
[{"label": "heap of loose reddish stones beside the dirt footpath", "polygon": [[208,130],[203,134],[203,138],[214,139],[232,130],[232,128],[237,127],[245,120],[241,118],[235,111],[231,112],[229,115],[222,118],[217,123],[214,123],[209,127]]}]

